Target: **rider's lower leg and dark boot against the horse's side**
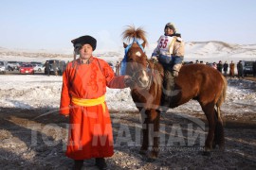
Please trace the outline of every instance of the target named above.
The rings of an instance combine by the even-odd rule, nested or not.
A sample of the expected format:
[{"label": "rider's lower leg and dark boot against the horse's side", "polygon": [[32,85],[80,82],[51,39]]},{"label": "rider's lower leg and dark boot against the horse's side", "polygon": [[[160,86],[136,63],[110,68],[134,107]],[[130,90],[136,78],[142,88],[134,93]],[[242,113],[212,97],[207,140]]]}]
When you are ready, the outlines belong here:
[{"label": "rider's lower leg and dark boot against the horse's side", "polygon": [[164,71],[163,91],[161,97],[161,106],[159,110],[161,113],[166,113],[169,110],[170,102],[172,98],[172,92],[174,91],[174,76],[169,70]]}]

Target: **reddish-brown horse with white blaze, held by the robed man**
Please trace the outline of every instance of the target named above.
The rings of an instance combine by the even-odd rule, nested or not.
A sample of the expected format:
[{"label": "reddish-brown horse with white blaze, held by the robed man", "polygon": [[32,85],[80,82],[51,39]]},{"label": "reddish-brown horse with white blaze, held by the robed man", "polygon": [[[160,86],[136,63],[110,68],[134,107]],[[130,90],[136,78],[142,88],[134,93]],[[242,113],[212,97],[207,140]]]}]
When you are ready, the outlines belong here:
[{"label": "reddish-brown horse with white blaze, held by the robed man", "polygon": [[[145,154],[149,147],[149,125],[153,125],[154,132],[159,131],[160,98],[162,94],[163,67],[147,59],[143,48],[147,43],[145,31],[141,28],[129,26],[123,33],[123,40],[134,42],[126,48],[126,74],[133,77],[131,87],[132,98],[140,111],[143,124],[143,140],[140,153]],[[142,44],[137,39],[144,41]],[[204,64],[188,64],[182,66],[179,76],[175,78],[174,92],[170,108],[180,106],[191,99],[201,105],[209,123],[209,132],[205,141],[205,153],[210,153],[212,145],[218,144],[224,148],[224,129],[220,107],[225,100],[227,81],[222,74]],[[214,109],[216,106],[216,110]],[[158,156],[158,138],[153,141],[150,158]]]}]

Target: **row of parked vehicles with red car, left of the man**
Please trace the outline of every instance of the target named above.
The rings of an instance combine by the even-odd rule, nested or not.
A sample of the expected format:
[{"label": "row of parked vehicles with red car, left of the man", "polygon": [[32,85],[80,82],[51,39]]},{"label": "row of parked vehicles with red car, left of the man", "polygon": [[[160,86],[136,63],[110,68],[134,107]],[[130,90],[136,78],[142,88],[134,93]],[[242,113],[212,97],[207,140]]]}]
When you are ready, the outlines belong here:
[{"label": "row of parked vehicles with red car, left of the man", "polygon": [[[57,71],[60,71],[65,66],[65,61],[61,59],[49,59],[49,71],[50,74],[54,74],[52,67],[53,62],[56,63]],[[31,62],[22,62],[22,61],[6,61],[0,60],[0,73],[6,74],[7,72],[18,71],[20,74],[29,74],[34,75],[35,73],[46,73],[46,65],[44,62],[31,61]]]}]

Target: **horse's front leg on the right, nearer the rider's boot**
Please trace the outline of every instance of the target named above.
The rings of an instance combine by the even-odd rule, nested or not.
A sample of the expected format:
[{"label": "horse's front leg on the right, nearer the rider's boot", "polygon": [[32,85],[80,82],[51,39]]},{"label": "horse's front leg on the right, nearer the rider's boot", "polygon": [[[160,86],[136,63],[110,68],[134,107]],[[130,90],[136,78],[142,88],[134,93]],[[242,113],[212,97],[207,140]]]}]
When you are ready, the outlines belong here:
[{"label": "horse's front leg on the right, nearer the rider's boot", "polygon": [[153,124],[153,147],[152,151],[149,155],[151,159],[156,159],[159,153],[159,120],[160,120],[160,112],[157,110],[151,110],[150,112],[150,123]]}]

